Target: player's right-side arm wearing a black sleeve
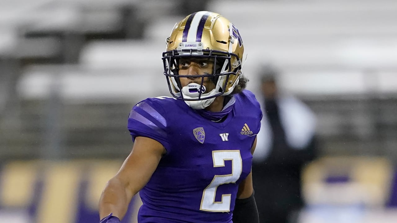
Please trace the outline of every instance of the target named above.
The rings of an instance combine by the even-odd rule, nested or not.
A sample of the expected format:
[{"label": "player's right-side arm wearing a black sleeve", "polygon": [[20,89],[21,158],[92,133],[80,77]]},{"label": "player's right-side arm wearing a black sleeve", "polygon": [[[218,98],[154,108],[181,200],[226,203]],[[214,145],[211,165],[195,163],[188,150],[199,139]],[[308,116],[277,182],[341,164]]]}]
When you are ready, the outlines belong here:
[{"label": "player's right-side arm wearing a black sleeve", "polygon": [[[256,138],[251,148],[251,154],[254,154],[256,147]],[[233,223],[259,223],[258,208],[254,198],[254,189],[252,186],[252,171],[239,184],[237,199],[233,210]]]}]

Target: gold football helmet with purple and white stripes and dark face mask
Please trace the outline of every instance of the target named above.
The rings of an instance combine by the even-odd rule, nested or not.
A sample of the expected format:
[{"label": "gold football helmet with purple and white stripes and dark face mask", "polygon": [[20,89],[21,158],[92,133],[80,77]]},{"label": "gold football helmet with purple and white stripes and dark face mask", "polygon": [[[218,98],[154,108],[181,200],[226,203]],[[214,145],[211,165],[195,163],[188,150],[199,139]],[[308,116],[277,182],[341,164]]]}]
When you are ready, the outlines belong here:
[{"label": "gold football helmet with purple and white stripes and dark face mask", "polygon": [[[166,42],[162,60],[173,97],[184,100],[194,109],[203,109],[215,97],[233,92],[241,75],[244,46],[238,29],[228,19],[214,12],[192,13],[175,24]],[[179,75],[178,62],[183,57],[211,58],[213,72]],[[180,77],[201,78],[201,85],[181,86]],[[203,85],[205,77],[211,78],[216,86],[209,92],[205,92]]]}]

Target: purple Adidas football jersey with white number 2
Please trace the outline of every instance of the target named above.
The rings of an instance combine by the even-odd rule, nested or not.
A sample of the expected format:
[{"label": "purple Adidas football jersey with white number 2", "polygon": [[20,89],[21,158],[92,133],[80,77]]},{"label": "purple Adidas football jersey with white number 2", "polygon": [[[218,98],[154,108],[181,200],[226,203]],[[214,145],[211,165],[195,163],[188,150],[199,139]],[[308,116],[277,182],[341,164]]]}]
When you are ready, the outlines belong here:
[{"label": "purple Adidas football jersey with white number 2", "polygon": [[262,112],[254,94],[235,94],[233,110],[210,121],[182,100],[148,98],[128,119],[133,136],[157,140],[167,153],[139,192],[139,223],[231,223],[239,183],[251,172]]}]

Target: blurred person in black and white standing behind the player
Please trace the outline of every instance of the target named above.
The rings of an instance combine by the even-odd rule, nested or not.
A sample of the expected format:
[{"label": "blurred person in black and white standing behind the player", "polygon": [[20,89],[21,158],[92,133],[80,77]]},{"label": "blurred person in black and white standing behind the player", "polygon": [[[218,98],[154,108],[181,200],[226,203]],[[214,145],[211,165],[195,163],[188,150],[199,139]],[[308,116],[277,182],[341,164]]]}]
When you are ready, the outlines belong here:
[{"label": "blurred person in black and white standing behind the player", "polygon": [[291,223],[303,207],[301,169],[315,158],[314,113],[297,98],[279,92],[278,69],[262,67],[262,128],[252,164],[261,223]]}]

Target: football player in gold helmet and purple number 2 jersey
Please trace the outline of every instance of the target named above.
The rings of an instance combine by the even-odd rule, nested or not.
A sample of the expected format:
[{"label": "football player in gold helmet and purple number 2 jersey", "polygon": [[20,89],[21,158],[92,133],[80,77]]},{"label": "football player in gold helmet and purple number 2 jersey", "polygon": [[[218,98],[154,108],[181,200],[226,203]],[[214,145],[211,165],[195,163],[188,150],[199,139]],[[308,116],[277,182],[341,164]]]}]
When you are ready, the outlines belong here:
[{"label": "football player in gold helmet and purple number 2 jersey", "polygon": [[139,223],[258,223],[252,153],[262,112],[245,90],[243,42],[214,12],[196,12],[166,39],[173,97],[147,98],[128,118],[133,149],[100,198],[118,223],[139,192]]}]

